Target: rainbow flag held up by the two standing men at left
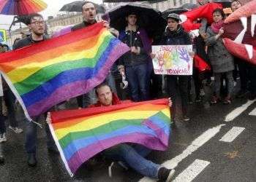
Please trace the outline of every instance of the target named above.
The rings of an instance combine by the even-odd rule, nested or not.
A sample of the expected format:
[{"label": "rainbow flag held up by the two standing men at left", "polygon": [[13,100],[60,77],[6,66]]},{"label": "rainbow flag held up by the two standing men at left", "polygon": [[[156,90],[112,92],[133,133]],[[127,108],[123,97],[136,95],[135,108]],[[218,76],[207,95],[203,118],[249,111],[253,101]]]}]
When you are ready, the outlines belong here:
[{"label": "rainbow flag held up by the two standing men at left", "polygon": [[0,70],[26,116],[89,92],[129,50],[102,23],[0,54]]}]

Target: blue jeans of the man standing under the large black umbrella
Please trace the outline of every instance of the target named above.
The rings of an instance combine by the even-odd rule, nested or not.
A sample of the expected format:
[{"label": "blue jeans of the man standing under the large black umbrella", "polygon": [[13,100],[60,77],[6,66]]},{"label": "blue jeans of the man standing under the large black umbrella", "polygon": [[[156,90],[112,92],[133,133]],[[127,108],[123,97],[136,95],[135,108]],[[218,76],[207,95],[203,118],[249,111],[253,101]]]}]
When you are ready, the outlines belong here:
[{"label": "blue jeans of the man standing under the large black umbrella", "polygon": [[148,66],[142,63],[136,66],[126,66],[126,76],[133,101],[148,100]]}]

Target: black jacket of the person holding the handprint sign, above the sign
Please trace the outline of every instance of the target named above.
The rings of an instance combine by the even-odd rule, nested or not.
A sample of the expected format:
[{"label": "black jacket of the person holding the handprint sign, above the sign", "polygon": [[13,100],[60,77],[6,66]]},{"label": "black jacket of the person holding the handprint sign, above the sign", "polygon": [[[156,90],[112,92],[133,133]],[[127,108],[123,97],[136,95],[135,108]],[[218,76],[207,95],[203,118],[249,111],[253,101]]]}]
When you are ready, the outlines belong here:
[{"label": "black jacket of the person holding the handprint sign, above the sign", "polygon": [[177,31],[170,31],[169,28],[162,35],[160,45],[189,45],[192,44],[189,33],[185,32],[181,25]]}]

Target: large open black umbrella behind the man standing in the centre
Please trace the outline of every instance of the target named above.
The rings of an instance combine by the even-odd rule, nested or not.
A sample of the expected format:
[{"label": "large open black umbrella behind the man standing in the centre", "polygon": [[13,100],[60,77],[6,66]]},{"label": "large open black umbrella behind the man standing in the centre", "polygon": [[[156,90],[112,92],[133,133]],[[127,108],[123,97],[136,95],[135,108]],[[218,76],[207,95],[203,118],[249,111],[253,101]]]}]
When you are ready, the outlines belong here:
[{"label": "large open black umbrella behind the man standing in the centre", "polygon": [[156,38],[156,36],[162,35],[165,30],[166,21],[162,17],[161,12],[146,4],[118,4],[118,7],[110,9],[103,18],[109,17],[110,26],[121,31],[127,25],[125,17],[129,12],[135,12],[138,15],[138,25],[147,31],[149,37]]}]

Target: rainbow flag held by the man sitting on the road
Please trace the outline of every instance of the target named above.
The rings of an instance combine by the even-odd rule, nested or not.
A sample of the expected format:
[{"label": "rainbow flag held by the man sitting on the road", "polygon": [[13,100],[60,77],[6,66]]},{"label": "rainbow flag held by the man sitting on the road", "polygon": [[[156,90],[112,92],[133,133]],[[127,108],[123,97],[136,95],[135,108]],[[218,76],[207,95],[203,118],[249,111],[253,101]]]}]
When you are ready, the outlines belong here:
[{"label": "rainbow flag held by the man sitting on the road", "polygon": [[170,135],[167,99],[56,111],[48,124],[71,176],[100,151],[118,143],[138,143],[164,151]]}]

